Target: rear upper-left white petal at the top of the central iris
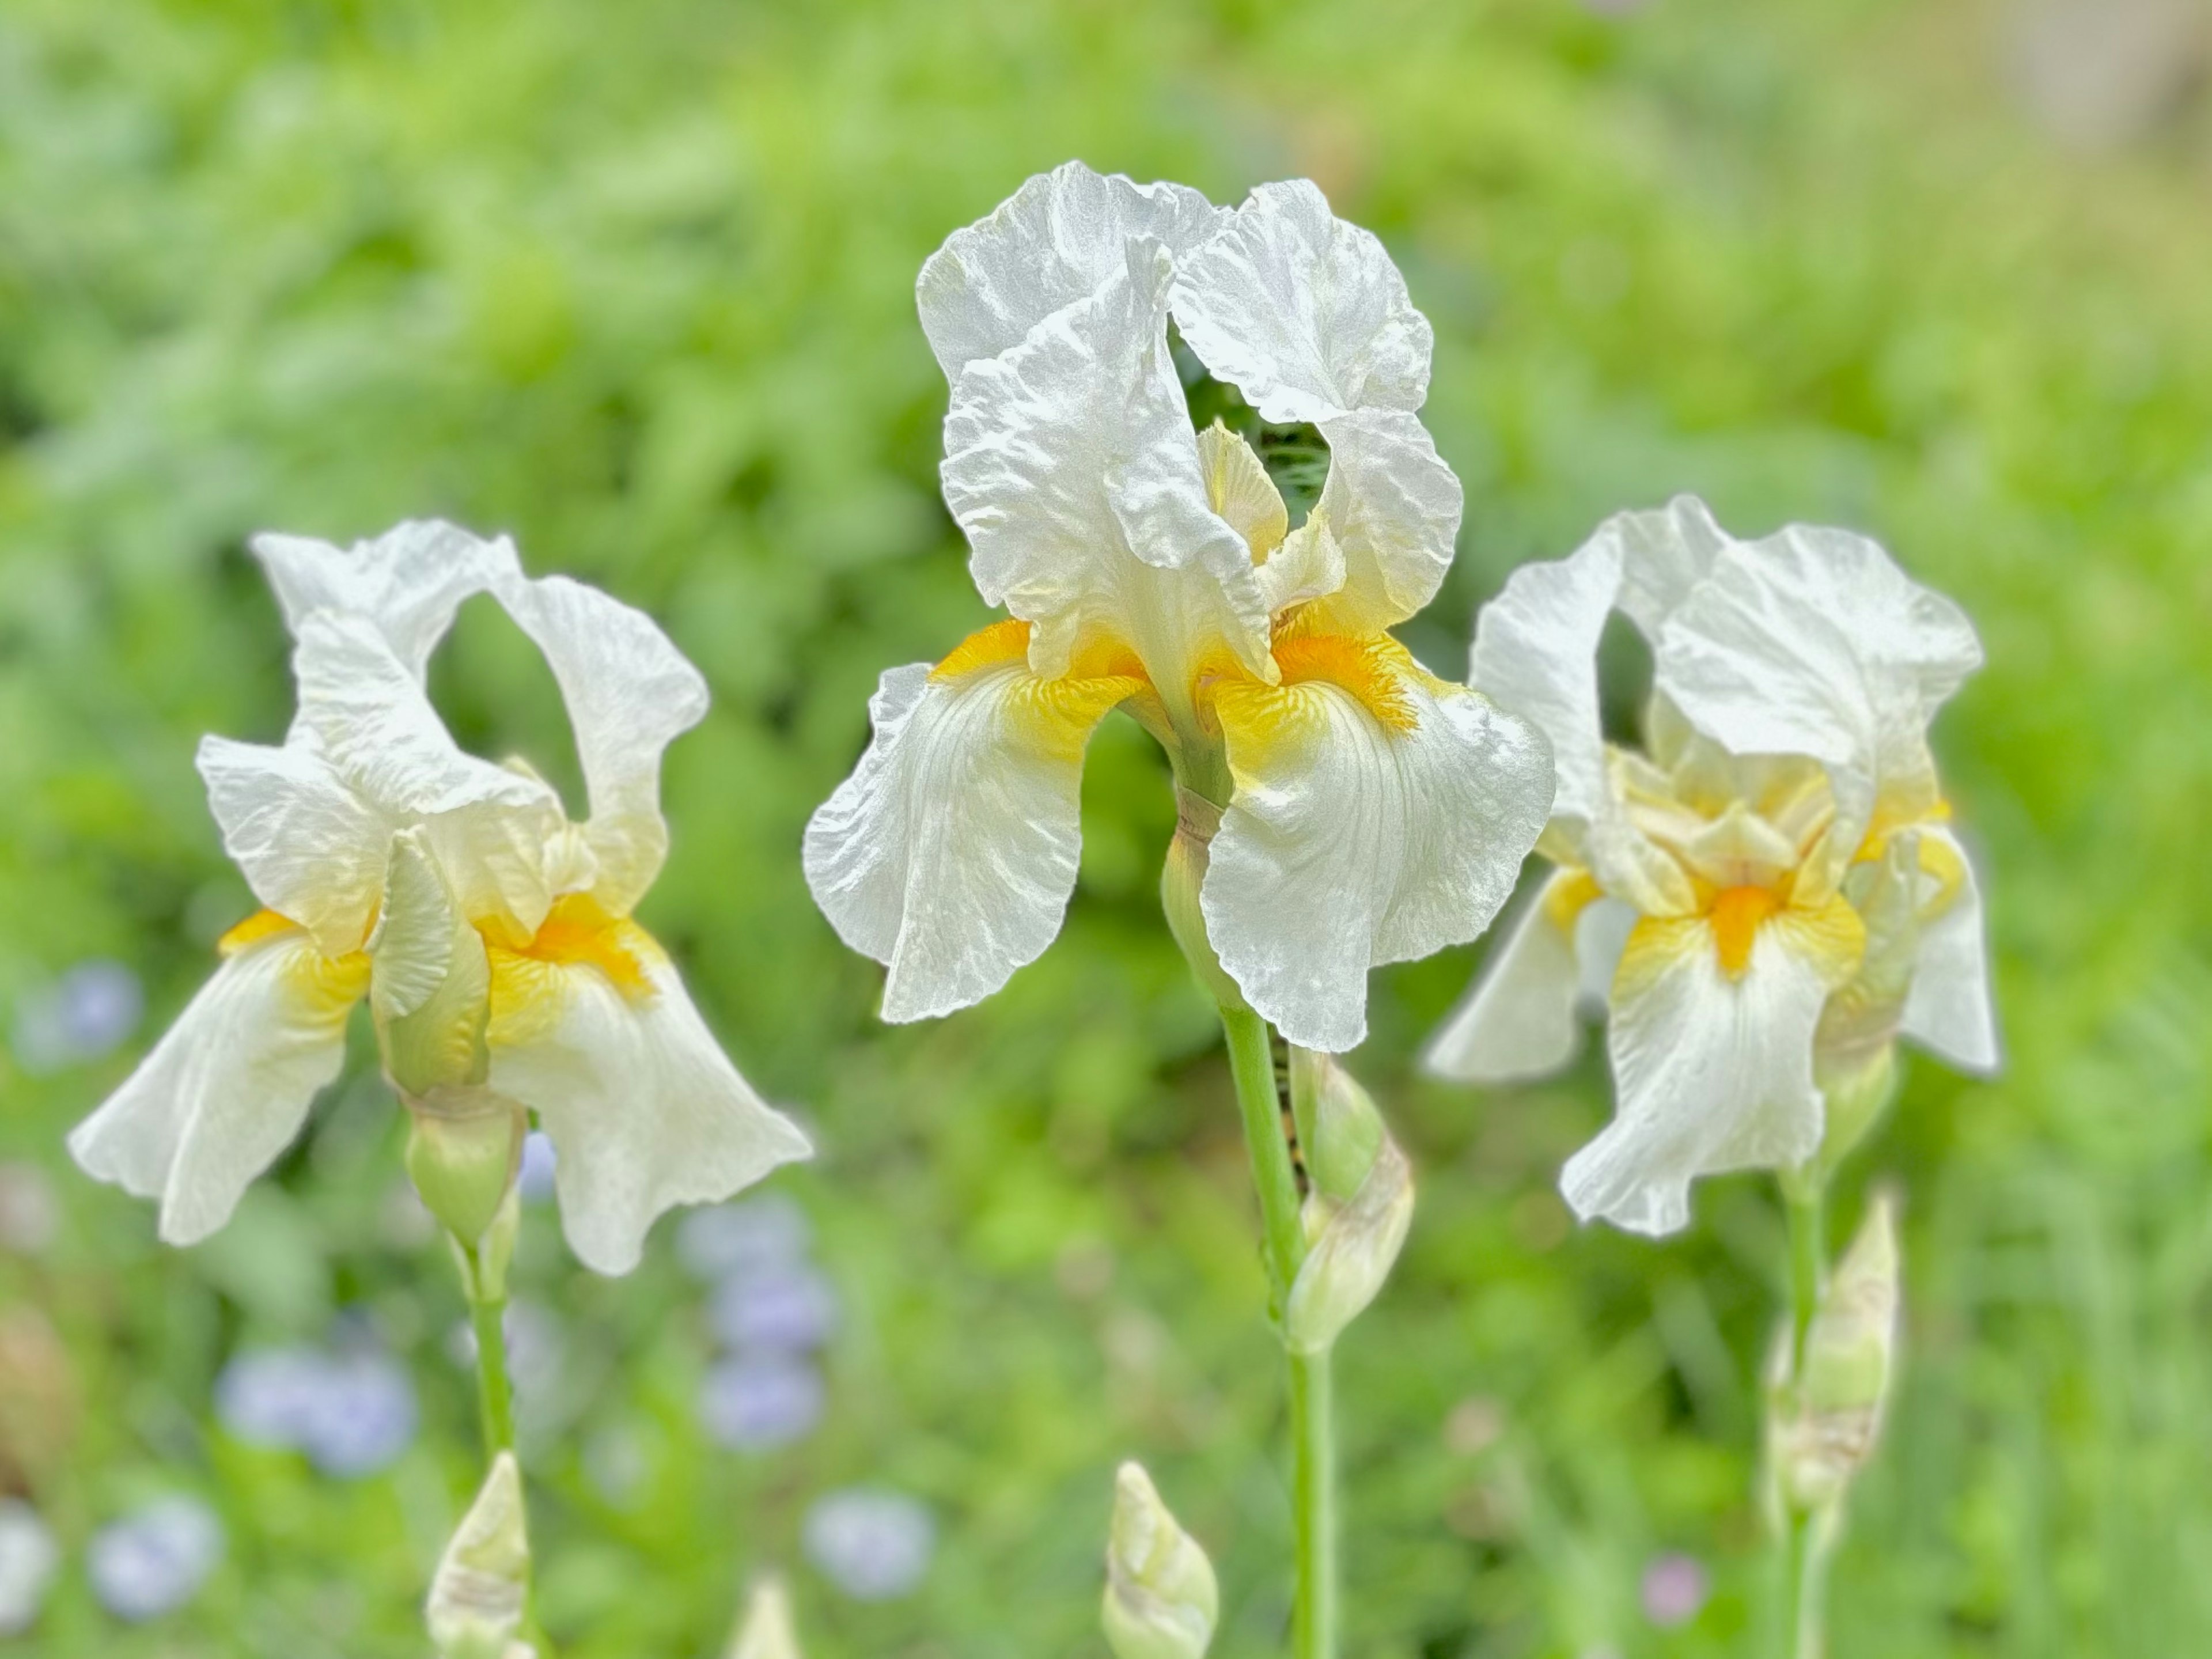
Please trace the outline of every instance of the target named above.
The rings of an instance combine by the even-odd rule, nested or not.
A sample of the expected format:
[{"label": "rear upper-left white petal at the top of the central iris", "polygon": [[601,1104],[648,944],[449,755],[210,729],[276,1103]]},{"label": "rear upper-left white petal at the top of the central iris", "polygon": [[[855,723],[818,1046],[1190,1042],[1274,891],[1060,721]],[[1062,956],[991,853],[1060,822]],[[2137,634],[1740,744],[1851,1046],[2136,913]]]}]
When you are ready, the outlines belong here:
[{"label": "rear upper-left white petal at the top of the central iris", "polygon": [[929,349],[945,378],[958,380],[975,358],[1020,345],[1046,316],[1115,276],[1130,237],[1181,254],[1225,217],[1181,184],[1130,184],[1082,161],[1040,173],[922,263],[914,292]]}]

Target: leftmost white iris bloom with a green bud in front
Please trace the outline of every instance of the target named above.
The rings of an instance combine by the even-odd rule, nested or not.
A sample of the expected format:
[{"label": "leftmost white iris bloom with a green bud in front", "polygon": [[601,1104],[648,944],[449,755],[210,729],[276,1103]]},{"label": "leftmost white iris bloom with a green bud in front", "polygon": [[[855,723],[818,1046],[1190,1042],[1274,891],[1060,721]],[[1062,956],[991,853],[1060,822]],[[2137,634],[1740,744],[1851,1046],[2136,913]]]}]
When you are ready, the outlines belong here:
[{"label": "leftmost white iris bloom with a green bud in front", "polygon": [[[706,712],[666,635],[447,524],[352,553],[290,535],[254,551],[296,637],[299,714],[281,748],[206,739],[199,770],[265,909],[223,936],[215,978],[71,1135],[77,1161],[159,1199],[166,1241],[204,1239],[338,1075],[365,995],[418,1121],[538,1115],[568,1241],[599,1272],[633,1267],[661,1210],[805,1157],[630,920],[668,849],[661,752]],[[456,748],[422,690],[480,591],[560,681],[584,823],[520,761]]]}]

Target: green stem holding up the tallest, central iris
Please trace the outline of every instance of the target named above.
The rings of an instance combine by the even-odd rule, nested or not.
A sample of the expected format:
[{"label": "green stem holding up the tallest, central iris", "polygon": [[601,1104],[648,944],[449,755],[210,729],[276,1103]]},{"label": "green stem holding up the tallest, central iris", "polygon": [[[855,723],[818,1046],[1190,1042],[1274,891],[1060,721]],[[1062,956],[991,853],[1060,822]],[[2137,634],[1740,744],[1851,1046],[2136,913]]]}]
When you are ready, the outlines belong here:
[{"label": "green stem holding up the tallest, central iris", "polygon": [[[1221,1009],[1228,1033],[1237,1104],[1243,1110],[1252,1181],[1259,1186],[1265,1230],[1272,1314],[1281,1323],[1290,1287],[1305,1261],[1305,1221],[1298,1212],[1298,1172],[1283,1139],[1283,1099],[1274,1084],[1274,1046],[1267,1022],[1250,1009]],[[1336,1455],[1329,1420],[1329,1356],[1290,1354],[1292,1522],[1296,1593],[1292,1652],[1296,1659],[1336,1657]]]}]

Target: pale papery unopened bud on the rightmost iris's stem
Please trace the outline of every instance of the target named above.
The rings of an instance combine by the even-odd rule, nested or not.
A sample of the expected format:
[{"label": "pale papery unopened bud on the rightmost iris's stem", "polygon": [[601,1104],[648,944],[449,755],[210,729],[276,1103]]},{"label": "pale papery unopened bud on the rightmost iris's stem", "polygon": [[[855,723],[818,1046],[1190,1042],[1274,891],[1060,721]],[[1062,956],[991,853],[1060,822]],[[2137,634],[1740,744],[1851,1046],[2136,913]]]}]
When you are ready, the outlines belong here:
[{"label": "pale papery unopened bud on the rightmost iris's stem", "polygon": [[1774,1453],[1790,1509],[1827,1509],[1865,1467],[1880,1438],[1896,1349],[1896,1201],[1878,1192],[1820,1296],[1805,1365],[1781,1391]]}]

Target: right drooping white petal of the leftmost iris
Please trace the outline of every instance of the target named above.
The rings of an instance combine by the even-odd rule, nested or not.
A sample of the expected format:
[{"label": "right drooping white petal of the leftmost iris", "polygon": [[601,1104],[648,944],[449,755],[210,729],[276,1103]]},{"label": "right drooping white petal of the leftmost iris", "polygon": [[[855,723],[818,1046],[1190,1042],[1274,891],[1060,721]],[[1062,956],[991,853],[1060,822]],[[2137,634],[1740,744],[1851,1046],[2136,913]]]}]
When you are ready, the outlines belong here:
[{"label": "right drooping white petal of the leftmost iris", "polygon": [[[728,1199],[814,1150],[737,1073],[668,958],[650,940],[639,956],[648,995],[586,962],[538,964],[551,1006],[495,1011],[491,1033],[491,1086],[544,1124],[562,1232],[602,1274],[637,1265],[661,1212]],[[502,1031],[518,1015],[520,1037]]]}]

